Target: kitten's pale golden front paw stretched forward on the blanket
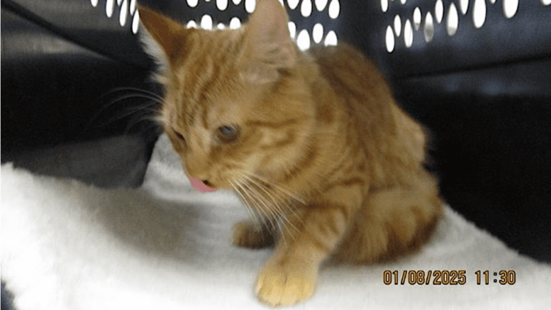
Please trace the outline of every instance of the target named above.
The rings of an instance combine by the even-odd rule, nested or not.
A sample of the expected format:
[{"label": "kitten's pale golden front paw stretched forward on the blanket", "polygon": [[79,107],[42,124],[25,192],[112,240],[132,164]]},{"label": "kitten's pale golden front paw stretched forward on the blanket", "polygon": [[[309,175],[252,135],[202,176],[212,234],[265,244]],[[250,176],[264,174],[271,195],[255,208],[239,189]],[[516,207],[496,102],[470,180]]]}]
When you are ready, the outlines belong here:
[{"label": "kitten's pale golden front paw stretched forward on the blanket", "polygon": [[291,306],[312,297],[318,269],[292,269],[288,265],[267,264],[257,277],[255,293],[269,306]]}]

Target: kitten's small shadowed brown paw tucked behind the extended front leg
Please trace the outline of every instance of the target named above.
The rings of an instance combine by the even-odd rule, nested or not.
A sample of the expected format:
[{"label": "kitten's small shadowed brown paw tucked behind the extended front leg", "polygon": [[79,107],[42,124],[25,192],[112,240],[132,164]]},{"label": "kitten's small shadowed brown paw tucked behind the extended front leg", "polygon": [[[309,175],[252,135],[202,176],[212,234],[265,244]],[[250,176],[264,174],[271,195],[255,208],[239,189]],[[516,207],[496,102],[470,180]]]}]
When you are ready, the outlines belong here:
[{"label": "kitten's small shadowed brown paw tucked behind the extended front leg", "polygon": [[274,244],[274,237],[267,228],[243,221],[233,226],[233,244],[242,248],[265,248]]}]

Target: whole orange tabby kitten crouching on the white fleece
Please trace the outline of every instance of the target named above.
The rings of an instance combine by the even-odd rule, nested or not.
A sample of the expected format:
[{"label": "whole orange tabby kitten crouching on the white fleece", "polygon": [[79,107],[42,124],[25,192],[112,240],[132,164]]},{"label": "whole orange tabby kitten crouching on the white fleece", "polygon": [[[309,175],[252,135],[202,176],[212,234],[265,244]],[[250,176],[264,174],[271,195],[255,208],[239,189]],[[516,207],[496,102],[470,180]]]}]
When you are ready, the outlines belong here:
[{"label": "whole orange tabby kitten crouching on the white fleece", "polygon": [[387,260],[428,237],[442,201],[425,133],[360,52],[301,52],[277,0],[257,1],[236,30],[139,10],[165,63],[162,123],[192,184],[243,198],[254,221],[235,225],[235,245],[275,245],[260,301],[308,299],[329,258]]}]

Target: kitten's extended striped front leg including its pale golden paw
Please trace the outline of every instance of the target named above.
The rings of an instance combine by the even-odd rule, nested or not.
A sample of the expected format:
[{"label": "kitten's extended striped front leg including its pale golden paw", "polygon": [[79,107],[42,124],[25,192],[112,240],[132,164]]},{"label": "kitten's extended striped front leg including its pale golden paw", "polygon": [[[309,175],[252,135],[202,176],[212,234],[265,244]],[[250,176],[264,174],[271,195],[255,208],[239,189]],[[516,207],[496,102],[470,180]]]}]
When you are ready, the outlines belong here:
[{"label": "kitten's extended striped front leg including its pale golden paw", "polygon": [[[356,186],[355,186],[356,185]],[[289,217],[255,284],[257,297],[270,306],[288,306],[308,299],[316,289],[318,270],[346,231],[362,202],[357,184],[335,186],[323,200]]]}]

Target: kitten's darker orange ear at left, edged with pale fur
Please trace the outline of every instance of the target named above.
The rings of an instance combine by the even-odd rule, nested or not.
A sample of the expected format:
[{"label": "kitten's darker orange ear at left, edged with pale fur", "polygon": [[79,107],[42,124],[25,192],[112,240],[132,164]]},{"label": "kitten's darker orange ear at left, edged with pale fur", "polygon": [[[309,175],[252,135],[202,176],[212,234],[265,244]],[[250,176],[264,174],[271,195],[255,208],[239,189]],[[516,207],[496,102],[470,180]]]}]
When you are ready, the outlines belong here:
[{"label": "kitten's darker orange ear at left, edged with pale fur", "polygon": [[[182,48],[185,44],[185,33],[188,31],[181,23],[174,21],[160,13],[138,6],[140,21],[145,30],[148,31],[151,38],[159,45],[169,62],[174,62],[178,55],[182,54]],[[145,41],[147,39],[144,39]],[[148,43],[145,43],[148,45]],[[150,52],[151,48],[148,48]],[[155,52],[150,52],[155,54]],[[156,56],[156,55],[153,55]]]}]

